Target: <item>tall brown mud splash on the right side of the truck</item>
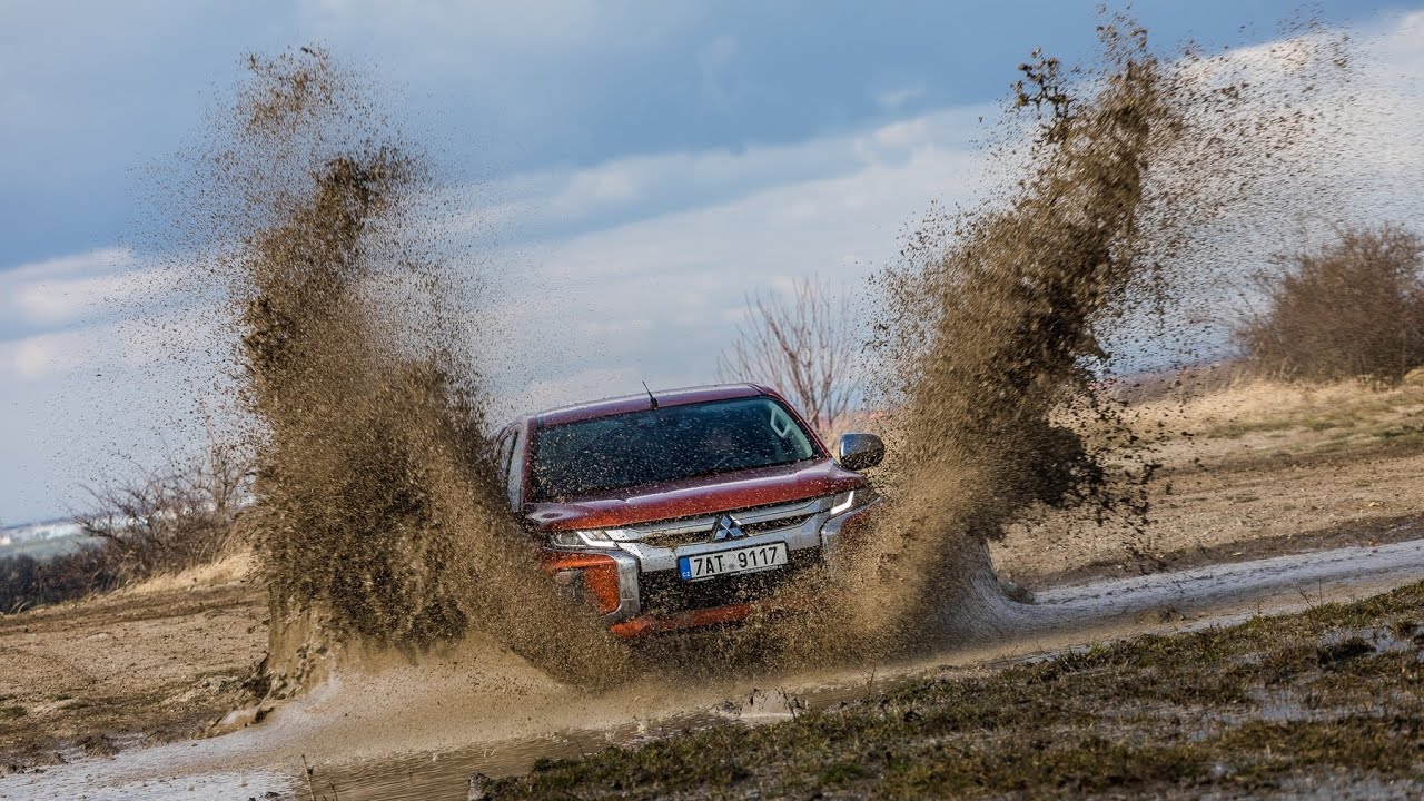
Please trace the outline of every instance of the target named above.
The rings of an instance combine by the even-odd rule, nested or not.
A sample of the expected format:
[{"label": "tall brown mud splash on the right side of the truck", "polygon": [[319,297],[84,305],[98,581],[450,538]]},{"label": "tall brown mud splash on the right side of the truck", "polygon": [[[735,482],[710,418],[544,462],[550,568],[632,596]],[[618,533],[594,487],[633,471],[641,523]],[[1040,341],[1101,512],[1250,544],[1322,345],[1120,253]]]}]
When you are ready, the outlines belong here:
[{"label": "tall brown mud splash on the right side of the truck", "polygon": [[927,225],[879,278],[899,486],[837,577],[844,600],[827,617],[850,648],[914,648],[1002,619],[987,542],[1031,507],[1146,520],[1153,465],[1121,458],[1126,433],[1098,386],[1111,334],[1188,302],[1193,251],[1292,178],[1314,125],[1306,101],[1339,70],[1331,43],[1297,44],[1290,86],[1255,88],[1220,58],[1158,58],[1131,21],[1099,31],[1096,68],[1037,53],[1020,67],[1015,107],[1037,120],[1027,161],[997,154],[1027,171],[1007,195]]}]

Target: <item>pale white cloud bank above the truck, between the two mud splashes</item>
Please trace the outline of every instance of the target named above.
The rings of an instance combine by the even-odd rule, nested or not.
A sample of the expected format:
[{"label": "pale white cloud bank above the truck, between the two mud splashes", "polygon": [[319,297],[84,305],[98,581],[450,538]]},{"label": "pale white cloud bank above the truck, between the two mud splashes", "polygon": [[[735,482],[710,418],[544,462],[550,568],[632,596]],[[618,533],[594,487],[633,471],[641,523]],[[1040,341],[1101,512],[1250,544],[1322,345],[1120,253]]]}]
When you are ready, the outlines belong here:
[{"label": "pale white cloud bank above the truck, between the two mud splashes", "polygon": [[[493,259],[517,281],[494,292],[496,328],[517,366],[491,371],[523,409],[716,381],[745,292],[820,274],[846,292],[894,258],[904,225],[931,202],[953,205],[977,190],[967,144],[977,110],[946,113],[859,135],[786,148],[789,158],[837,153],[822,175],[758,185],[722,202],[545,242],[534,254]],[[914,133],[909,135],[907,133]],[[745,162],[703,154],[731,172]],[[678,175],[701,172],[699,157]],[[564,381],[565,375],[577,381]],[[513,400],[511,400],[513,403]]]}]

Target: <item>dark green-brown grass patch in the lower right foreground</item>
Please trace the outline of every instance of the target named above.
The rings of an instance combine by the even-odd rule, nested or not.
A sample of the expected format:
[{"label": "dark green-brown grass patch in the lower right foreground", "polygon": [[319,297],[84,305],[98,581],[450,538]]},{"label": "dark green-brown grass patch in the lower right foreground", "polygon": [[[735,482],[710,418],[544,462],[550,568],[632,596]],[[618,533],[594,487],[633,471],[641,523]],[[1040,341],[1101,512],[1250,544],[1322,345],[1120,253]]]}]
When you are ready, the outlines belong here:
[{"label": "dark green-brown grass patch in the lower right foreground", "polygon": [[1415,584],[1143,636],[775,725],[544,760],[493,782],[488,795],[1075,798],[1272,792],[1302,775],[1417,780],[1421,613],[1424,584]]}]

